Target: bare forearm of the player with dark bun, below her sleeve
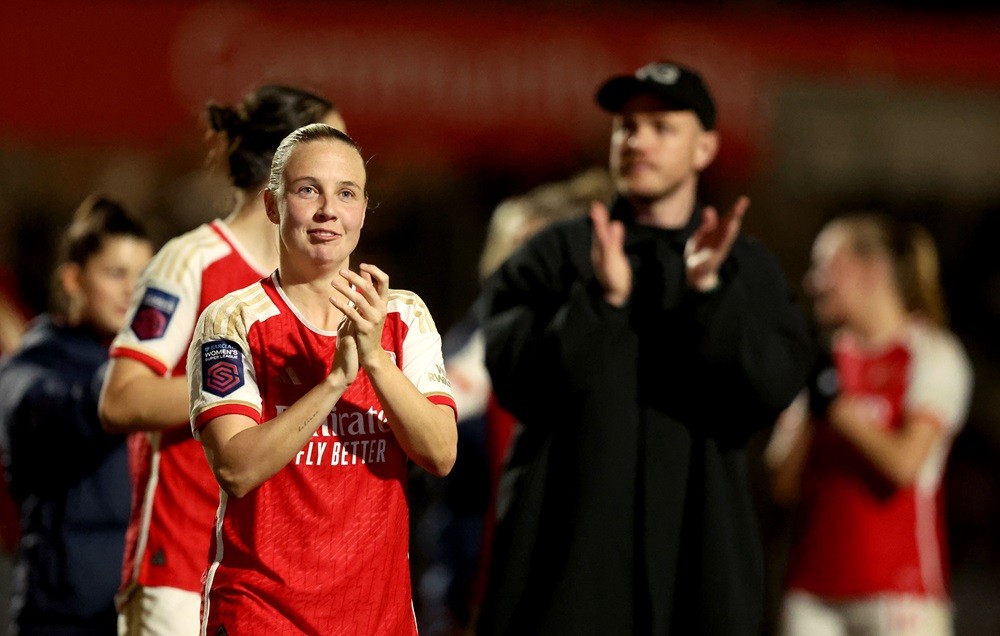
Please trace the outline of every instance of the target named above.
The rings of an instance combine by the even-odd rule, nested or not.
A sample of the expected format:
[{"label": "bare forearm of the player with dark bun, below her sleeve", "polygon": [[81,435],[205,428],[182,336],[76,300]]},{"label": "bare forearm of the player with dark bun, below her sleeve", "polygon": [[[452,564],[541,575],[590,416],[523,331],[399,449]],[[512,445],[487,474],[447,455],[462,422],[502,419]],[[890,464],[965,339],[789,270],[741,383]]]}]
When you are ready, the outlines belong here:
[{"label": "bare forearm of the player with dark bun, below her sleeve", "polygon": [[189,426],[187,380],[152,374],[119,378],[112,367],[101,390],[98,415],[109,433]]}]

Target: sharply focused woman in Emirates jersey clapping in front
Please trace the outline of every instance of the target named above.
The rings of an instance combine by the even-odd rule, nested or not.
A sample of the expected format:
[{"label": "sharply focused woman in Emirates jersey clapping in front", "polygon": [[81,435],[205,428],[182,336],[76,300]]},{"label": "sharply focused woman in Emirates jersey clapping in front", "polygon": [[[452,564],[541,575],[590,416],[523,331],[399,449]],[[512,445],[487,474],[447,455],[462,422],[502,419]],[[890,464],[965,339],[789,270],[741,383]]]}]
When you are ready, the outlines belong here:
[{"label": "sharply focused woman in Emirates jersey clapping in front", "polygon": [[278,271],[198,322],[191,421],[224,491],[202,634],[416,634],[408,462],[451,470],[455,402],[423,301],[350,270],[366,180],[337,129],[286,138]]}]

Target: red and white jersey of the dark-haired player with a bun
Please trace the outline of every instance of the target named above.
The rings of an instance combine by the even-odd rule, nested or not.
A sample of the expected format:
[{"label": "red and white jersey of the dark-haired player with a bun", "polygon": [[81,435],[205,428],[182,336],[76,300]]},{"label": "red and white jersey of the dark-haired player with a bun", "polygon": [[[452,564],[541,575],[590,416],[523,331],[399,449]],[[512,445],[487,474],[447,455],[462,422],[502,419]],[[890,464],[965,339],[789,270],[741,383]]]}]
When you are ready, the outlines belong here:
[{"label": "red and white jersey of the dark-haired player with a bun", "polygon": [[[163,376],[183,376],[202,310],[269,272],[252,264],[221,221],[178,236],[146,268],[132,299],[130,327],[112,357],[138,360]],[[125,542],[119,606],[135,585],[202,588],[219,486],[186,422],[162,433],[129,436],[132,516]]]}]

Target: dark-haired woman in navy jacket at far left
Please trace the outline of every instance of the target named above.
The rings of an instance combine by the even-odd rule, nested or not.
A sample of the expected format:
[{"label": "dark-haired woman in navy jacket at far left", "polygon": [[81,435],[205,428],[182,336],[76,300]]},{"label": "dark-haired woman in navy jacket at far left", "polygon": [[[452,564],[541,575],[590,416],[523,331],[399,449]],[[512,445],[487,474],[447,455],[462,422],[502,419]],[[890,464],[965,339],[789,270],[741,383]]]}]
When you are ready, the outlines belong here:
[{"label": "dark-haired woman in navy jacket at far left", "polygon": [[63,237],[56,309],[0,365],[0,445],[22,526],[11,633],[116,632],[130,485],[125,438],[101,429],[97,397],[152,253],[119,204],[88,198]]}]

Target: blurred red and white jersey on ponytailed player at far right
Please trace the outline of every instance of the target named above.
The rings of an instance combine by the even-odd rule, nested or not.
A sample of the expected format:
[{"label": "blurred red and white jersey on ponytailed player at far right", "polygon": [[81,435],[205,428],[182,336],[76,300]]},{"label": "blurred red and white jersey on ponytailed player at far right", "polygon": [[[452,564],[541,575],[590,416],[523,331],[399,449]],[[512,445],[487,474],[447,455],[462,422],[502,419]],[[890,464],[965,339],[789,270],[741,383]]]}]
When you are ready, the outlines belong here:
[{"label": "blurred red and white jersey on ponytailed player at far right", "polygon": [[894,487],[829,426],[820,423],[803,475],[802,505],[789,555],[789,586],[828,598],[902,593],[946,599],[941,480],[962,426],[971,367],[951,334],[922,322],[878,350],[835,342],[841,394],[864,399],[879,426],[929,415],[943,434],[915,482]]}]

